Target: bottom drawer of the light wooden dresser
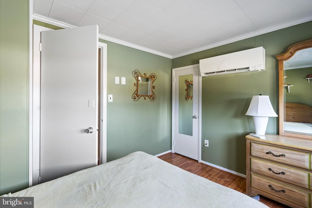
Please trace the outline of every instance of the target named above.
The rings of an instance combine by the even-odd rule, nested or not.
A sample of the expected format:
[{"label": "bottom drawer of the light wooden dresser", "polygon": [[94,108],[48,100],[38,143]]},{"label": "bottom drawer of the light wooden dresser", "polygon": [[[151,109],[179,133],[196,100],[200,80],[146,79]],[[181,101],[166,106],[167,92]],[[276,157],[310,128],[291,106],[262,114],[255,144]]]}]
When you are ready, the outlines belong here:
[{"label": "bottom drawer of the light wooden dresser", "polygon": [[309,192],[251,174],[251,186],[303,207],[309,207]]}]

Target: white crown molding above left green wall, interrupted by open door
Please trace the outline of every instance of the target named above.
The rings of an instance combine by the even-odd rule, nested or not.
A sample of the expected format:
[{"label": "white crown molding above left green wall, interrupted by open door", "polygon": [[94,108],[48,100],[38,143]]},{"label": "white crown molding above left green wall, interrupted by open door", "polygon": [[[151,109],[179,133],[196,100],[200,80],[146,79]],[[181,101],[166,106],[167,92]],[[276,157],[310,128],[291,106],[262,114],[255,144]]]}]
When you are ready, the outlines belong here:
[{"label": "white crown molding above left green wall, interrupted by open door", "polygon": [[[67,24],[67,23],[61,22],[59,20],[51,19],[51,18],[46,18],[46,17],[43,17],[41,15],[37,15],[37,14],[33,14],[33,19],[41,21],[41,22],[45,22],[45,23],[48,23],[48,24],[52,24],[52,25],[55,25],[55,26],[59,26],[59,27],[62,27],[62,28],[74,28],[74,27],[77,27],[75,25]],[[117,38],[112,38],[112,37],[105,36],[105,35],[102,35],[102,34],[98,34],[98,38],[103,39],[103,40],[107,40],[107,41],[110,41],[110,42],[114,42],[114,43],[117,43],[117,44],[120,44],[120,45],[124,45],[124,46],[127,46],[127,47],[131,47],[131,48],[134,48],[134,49],[137,49],[137,50],[140,50],[140,51],[145,51],[145,52],[148,52],[148,53],[151,53],[151,54],[155,54],[155,55],[158,55],[158,56],[161,56],[161,57],[166,57],[166,58],[170,58],[170,59],[173,58],[171,55],[164,54],[164,53],[161,53],[159,51],[155,51],[155,50],[152,50],[152,49],[149,49],[149,48],[145,48],[145,47],[142,47],[142,46],[139,46],[139,45],[136,45],[136,44],[132,44],[132,43],[129,43],[127,41],[119,40]]]}]

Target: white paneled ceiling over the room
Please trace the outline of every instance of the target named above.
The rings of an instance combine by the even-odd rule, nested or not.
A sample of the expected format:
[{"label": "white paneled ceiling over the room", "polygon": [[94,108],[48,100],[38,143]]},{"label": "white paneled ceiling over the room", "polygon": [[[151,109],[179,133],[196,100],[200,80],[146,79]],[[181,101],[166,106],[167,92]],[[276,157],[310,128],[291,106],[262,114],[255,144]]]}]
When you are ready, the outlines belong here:
[{"label": "white paneled ceiling over the room", "polygon": [[33,0],[33,13],[175,58],[310,21],[312,0]]}]

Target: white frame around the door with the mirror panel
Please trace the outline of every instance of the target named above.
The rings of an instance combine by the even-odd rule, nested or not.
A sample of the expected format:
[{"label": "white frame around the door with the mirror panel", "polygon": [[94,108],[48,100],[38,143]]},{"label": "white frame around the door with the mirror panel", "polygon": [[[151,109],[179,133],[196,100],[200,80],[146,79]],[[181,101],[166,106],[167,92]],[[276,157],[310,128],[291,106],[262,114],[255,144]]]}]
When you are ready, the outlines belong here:
[{"label": "white frame around the door with the mirror panel", "polygon": [[[175,72],[186,69],[197,69],[199,74],[199,64],[184,66],[172,69],[172,134],[171,134],[171,147],[172,152],[175,153]],[[198,76],[198,162],[201,162],[201,76]]]}]

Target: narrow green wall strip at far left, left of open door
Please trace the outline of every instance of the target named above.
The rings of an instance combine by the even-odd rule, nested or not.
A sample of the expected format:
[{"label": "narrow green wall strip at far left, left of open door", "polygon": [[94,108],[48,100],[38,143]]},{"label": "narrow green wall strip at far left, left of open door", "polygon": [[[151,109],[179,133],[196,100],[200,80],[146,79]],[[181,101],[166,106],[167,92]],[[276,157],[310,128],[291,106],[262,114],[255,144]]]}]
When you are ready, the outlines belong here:
[{"label": "narrow green wall strip at far left, left of open door", "polygon": [[0,195],[28,187],[28,5],[0,0]]}]

